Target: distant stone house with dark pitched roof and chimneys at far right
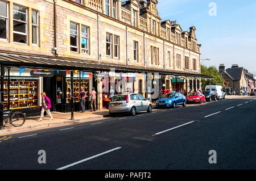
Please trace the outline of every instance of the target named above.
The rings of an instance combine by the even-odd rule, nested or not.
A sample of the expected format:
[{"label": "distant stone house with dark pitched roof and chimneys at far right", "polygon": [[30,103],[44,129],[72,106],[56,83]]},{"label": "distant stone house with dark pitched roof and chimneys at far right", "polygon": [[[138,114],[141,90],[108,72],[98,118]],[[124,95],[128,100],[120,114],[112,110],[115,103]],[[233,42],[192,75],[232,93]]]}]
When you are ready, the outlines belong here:
[{"label": "distant stone house with dark pitched roof and chimneys at far right", "polygon": [[232,68],[225,69],[225,65],[221,64],[219,72],[224,81],[228,82],[225,89],[229,92],[235,91],[236,95],[241,95],[242,91],[254,91],[256,81],[247,69],[239,67],[237,64],[232,65]]}]

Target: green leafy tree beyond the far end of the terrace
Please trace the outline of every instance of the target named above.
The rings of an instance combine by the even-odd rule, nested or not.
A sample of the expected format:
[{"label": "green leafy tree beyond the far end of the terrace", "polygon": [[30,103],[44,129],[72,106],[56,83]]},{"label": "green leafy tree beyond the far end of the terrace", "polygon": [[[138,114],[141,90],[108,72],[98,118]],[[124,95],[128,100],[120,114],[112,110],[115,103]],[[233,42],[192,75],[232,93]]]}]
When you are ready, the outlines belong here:
[{"label": "green leafy tree beyond the far end of the terrace", "polygon": [[220,86],[223,86],[223,79],[222,79],[220,73],[218,72],[218,69],[216,68],[216,66],[209,66],[209,68],[208,68],[205,65],[201,65],[201,73],[203,75],[208,75],[208,76],[213,77],[213,81],[203,81],[202,82],[203,90],[205,89],[205,86],[207,86],[207,85],[218,84]]}]

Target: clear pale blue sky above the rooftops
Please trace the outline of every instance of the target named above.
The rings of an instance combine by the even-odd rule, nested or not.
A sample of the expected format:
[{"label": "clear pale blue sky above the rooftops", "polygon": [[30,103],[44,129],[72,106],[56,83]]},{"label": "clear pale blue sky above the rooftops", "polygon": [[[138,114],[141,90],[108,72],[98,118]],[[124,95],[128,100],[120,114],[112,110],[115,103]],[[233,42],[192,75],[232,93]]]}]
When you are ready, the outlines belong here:
[{"label": "clear pale blue sky above the rooftops", "polygon": [[[256,74],[256,0],[158,0],[162,20],[177,20],[183,31],[196,27],[203,65],[232,64]],[[216,5],[210,6],[210,3]],[[214,11],[216,10],[216,11]],[[211,12],[209,14],[209,11]],[[214,13],[216,12],[216,14]]]}]

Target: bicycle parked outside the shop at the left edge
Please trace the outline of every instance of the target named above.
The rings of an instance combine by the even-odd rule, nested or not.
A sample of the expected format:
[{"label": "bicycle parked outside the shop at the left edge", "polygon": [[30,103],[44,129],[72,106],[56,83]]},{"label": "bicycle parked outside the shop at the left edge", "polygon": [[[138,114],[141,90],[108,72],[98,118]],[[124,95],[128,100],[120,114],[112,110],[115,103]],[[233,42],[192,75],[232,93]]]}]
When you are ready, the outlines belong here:
[{"label": "bicycle parked outside the shop at the left edge", "polygon": [[6,127],[7,124],[11,124],[14,127],[21,127],[26,121],[26,115],[23,112],[14,112],[14,110],[5,110],[2,112],[4,127]]}]

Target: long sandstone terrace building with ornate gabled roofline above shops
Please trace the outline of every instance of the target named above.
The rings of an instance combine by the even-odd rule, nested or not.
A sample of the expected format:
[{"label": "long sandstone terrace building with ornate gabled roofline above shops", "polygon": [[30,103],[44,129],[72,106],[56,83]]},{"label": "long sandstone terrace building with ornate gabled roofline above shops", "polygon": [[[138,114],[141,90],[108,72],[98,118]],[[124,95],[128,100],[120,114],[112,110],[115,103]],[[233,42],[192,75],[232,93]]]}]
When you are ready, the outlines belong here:
[{"label": "long sandstone terrace building with ornate gabled roofline above shops", "polygon": [[[37,76],[37,91],[48,93],[55,111],[69,110],[71,71],[79,82],[76,88],[83,85],[87,92],[92,87],[100,92],[113,82],[92,78],[96,73],[110,69],[133,73],[126,79],[132,80],[134,92],[144,96],[147,93],[142,89],[147,89],[148,79],[143,73],[159,73],[152,76],[151,84],[159,82],[159,89],[175,91],[198,90],[201,78],[206,77],[200,71],[201,45],[197,43],[196,28],[184,31],[176,21],[162,20],[157,0],[0,0],[0,5],[1,66],[10,68],[10,83],[20,85],[18,80]],[[42,76],[36,75],[39,70]],[[46,77],[45,71],[56,72]],[[87,82],[82,84],[81,79]],[[3,88],[5,84],[1,87],[7,89]],[[24,98],[21,107],[19,100],[10,102],[13,97],[9,92],[5,107],[40,104],[38,95]],[[73,94],[77,96],[79,90]],[[79,101],[76,96],[75,102]],[[107,97],[107,93],[98,94],[98,108],[105,107]]]}]

